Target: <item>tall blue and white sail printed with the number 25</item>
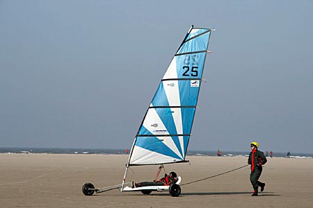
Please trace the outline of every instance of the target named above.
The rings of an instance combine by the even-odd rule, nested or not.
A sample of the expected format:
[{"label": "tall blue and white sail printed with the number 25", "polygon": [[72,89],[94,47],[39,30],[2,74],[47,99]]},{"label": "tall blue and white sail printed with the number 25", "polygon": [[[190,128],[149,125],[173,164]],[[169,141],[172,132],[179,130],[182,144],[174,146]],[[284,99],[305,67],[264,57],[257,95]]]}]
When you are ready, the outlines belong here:
[{"label": "tall blue and white sail printed with the number 25", "polygon": [[129,166],[184,161],[210,35],[207,28],[188,31],[147,109]]}]

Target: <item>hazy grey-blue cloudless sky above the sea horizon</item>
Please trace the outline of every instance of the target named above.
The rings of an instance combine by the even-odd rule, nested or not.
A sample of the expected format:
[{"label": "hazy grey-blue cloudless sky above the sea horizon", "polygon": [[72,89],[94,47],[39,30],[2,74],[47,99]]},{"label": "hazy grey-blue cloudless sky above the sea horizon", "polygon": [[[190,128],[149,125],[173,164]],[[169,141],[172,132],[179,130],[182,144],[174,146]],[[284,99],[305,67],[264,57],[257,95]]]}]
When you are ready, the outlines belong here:
[{"label": "hazy grey-blue cloudless sky above the sea horizon", "polygon": [[186,32],[189,150],[313,153],[313,1],[0,1],[0,147],[130,148]]}]

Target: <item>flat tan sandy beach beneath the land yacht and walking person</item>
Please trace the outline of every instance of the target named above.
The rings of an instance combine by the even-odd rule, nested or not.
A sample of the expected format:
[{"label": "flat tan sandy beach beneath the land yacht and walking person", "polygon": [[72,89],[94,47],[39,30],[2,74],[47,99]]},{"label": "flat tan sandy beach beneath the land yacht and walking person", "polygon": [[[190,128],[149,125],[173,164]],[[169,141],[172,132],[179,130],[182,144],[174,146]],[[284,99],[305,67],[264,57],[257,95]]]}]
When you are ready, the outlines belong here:
[{"label": "flat tan sandy beach beneath the land yacht and walking person", "polygon": [[[268,158],[260,180],[263,193],[250,196],[248,166],[168,192],[122,192],[84,196],[81,187],[122,182],[127,155],[0,154],[1,207],[313,207],[313,159]],[[190,164],[168,164],[182,184],[244,166],[247,157],[190,156]],[[127,181],[153,180],[158,166],[136,166]]]}]

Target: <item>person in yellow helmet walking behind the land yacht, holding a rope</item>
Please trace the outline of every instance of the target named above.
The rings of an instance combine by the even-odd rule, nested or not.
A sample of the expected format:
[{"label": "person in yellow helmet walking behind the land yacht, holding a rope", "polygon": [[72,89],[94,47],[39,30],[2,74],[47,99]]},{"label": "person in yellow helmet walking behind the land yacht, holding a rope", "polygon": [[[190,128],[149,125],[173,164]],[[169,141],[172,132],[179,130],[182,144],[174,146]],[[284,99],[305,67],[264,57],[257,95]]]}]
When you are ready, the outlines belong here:
[{"label": "person in yellow helmet walking behind the land yacht, holding a rope", "polygon": [[259,144],[256,141],[251,142],[250,148],[248,164],[251,165],[250,182],[253,188],[252,196],[257,196],[259,187],[261,187],[261,191],[264,191],[265,184],[259,182],[259,177],[262,173],[262,165],[266,164],[267,159],[264,153],[257,149]]}]

